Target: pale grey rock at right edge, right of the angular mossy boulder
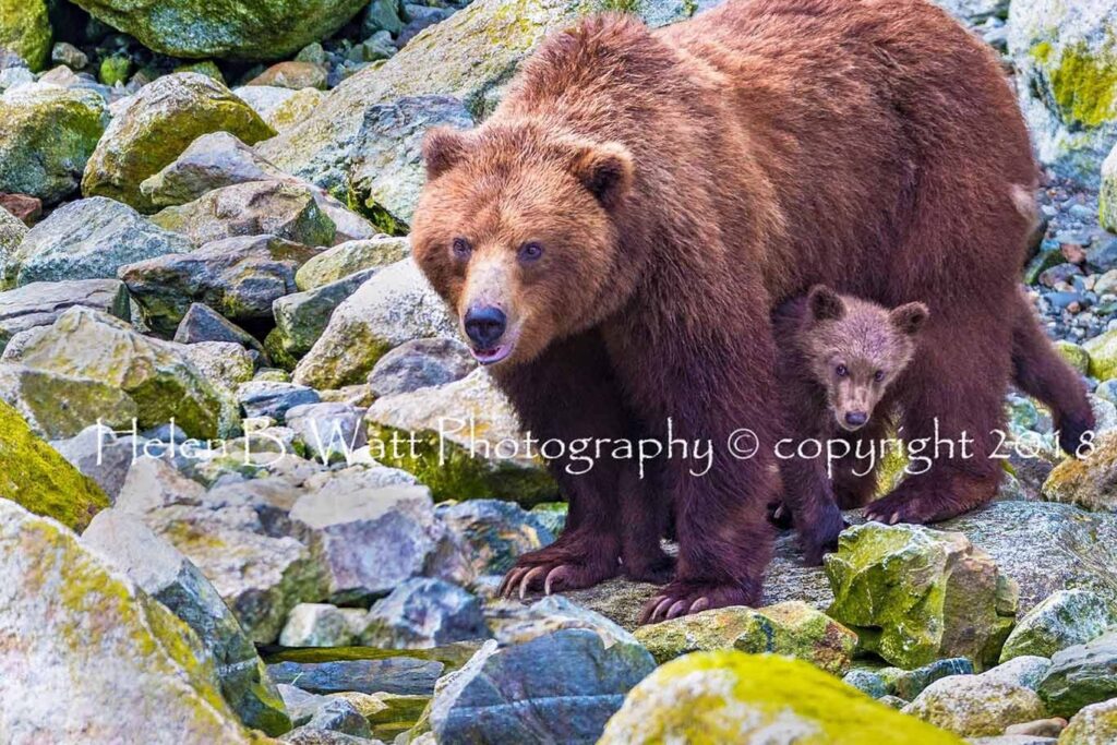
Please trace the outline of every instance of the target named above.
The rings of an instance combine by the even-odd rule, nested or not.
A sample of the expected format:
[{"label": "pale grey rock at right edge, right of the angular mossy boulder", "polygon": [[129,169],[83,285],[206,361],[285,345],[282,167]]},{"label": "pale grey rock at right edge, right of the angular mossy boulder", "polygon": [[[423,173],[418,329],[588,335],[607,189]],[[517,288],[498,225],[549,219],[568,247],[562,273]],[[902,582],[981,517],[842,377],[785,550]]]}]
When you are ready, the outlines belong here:
[{"label": "pale grey rock at right edge, right of the angular mossy boulder", "polygon": [[1062,590],[1021,617],[1004,642],[1001,661],[1023,655],[1052,657],[1113,627],[1117,609],[1108,600],[1086,590]]}]

